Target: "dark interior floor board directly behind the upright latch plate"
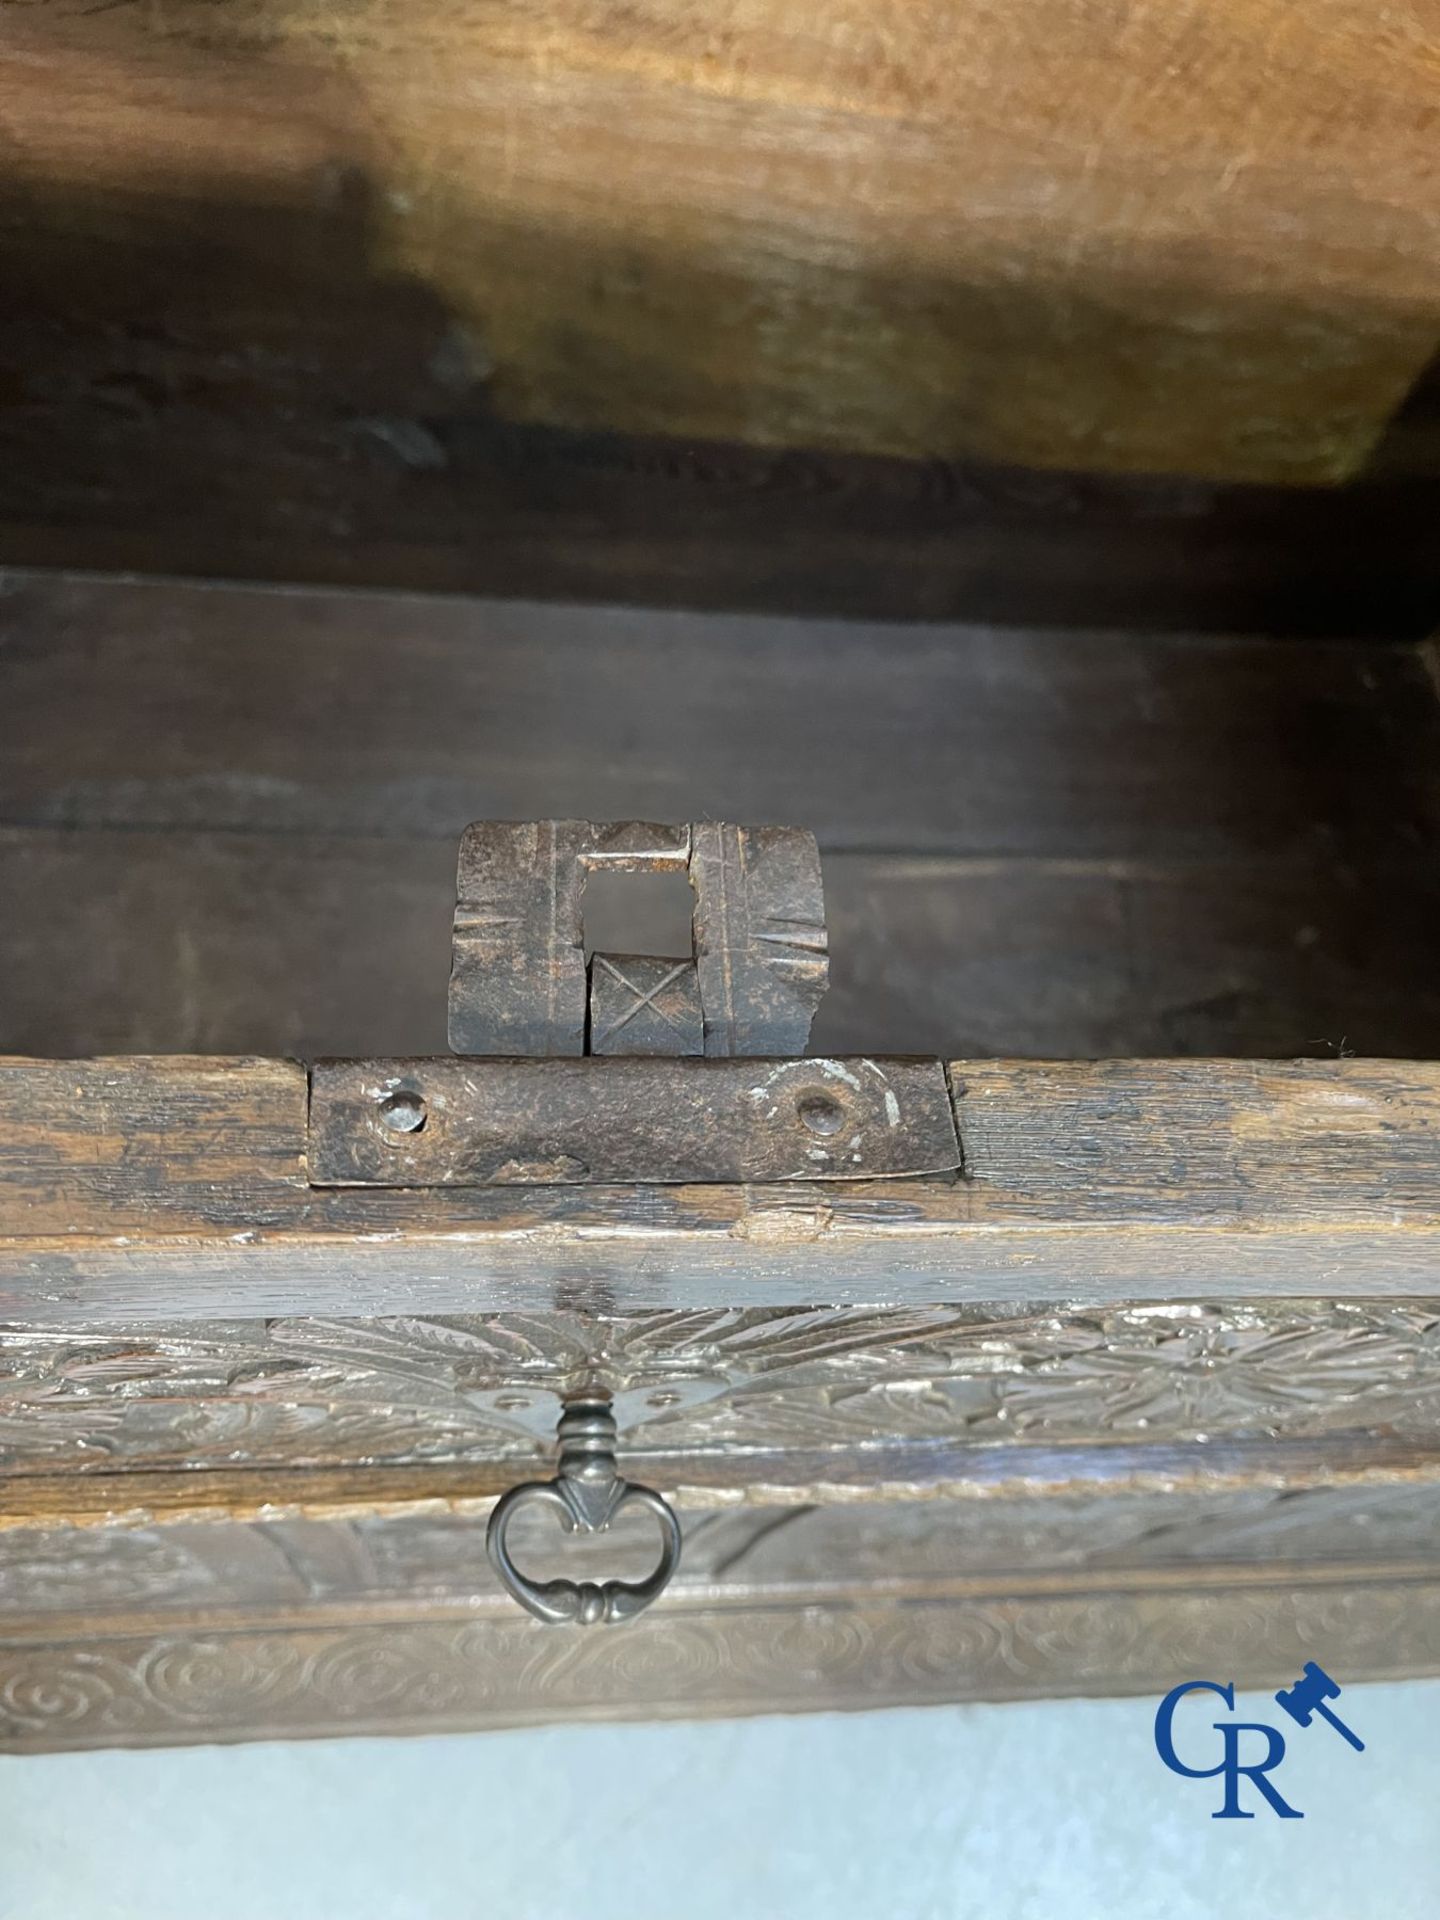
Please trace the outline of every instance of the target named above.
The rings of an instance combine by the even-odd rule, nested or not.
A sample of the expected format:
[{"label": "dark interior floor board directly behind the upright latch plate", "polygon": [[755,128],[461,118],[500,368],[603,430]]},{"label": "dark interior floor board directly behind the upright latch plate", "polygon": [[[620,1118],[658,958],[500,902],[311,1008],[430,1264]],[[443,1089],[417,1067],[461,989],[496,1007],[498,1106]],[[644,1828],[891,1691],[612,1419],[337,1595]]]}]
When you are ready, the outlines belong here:
[{"label": "dark interior floor board directly behind the upright latch plate", "polygon": [[[4,1048],[445,1052],[445,841],[0,828],[0,900]],[[1440,1056],[1430,854],[828,854],[826,916],[816,1052]]]}]

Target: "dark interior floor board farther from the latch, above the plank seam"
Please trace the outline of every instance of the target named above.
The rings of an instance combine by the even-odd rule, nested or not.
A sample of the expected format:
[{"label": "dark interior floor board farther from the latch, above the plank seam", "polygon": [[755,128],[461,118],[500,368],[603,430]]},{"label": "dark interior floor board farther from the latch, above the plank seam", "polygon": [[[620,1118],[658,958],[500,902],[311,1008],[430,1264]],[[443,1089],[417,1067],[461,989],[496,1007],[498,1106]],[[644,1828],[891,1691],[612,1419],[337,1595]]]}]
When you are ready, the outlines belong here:
[{"label": "dark interior floor board farther from the latch, above the plank seam", "polygon": [[828,854],[1336,877],[1440,839],[1440,703],[1409,649],[2,586],[4,826],[797,822]]}]

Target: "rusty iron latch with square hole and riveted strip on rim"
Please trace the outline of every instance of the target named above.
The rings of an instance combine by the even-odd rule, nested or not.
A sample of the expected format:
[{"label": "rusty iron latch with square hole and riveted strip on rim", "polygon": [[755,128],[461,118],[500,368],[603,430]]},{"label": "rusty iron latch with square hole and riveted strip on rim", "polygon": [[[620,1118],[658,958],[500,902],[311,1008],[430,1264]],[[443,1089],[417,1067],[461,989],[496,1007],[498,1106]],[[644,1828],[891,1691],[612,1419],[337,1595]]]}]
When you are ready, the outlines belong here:
[{"label": "rusty iron latch with square hole and riveted strip on rim", "polygon": [[[586,960],[586,874],[685,872],[691,956]],[[323,1060],[315,1187],[897,1179],[960,1165],[939,1060],[803,1058],[826,991],[799,828],[478,822],[451,1058]]]}]

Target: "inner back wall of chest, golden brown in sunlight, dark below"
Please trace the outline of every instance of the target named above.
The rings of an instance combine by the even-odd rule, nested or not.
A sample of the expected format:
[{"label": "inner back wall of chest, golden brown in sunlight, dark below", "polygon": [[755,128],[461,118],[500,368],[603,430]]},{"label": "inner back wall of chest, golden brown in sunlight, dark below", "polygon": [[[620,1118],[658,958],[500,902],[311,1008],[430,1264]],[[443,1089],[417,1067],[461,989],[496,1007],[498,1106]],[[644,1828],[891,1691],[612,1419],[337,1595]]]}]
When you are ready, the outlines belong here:
[{"label": "inner back wall of chest, golden brown in sunlight, dark below", "polygon": [[10,6],[4,553],[1417,630],[1438,36],[1359,0]]}]

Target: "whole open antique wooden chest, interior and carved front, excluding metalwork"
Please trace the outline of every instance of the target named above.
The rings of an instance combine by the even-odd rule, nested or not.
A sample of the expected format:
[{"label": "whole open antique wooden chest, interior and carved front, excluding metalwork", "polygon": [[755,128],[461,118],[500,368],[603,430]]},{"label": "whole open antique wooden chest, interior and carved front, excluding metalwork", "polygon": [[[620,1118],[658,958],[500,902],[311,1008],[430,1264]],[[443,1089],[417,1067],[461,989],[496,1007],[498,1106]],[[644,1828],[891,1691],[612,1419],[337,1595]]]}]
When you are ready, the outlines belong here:
[{"label": "whole open antique wooden chest, interior and carved front, excluding metalwork", "polygon": [[[0,8],[12,1749],[1440,1672],[1436,50],[720,12]],[[334,1177],[480,820],[812,829],[950,1158]]]}]

